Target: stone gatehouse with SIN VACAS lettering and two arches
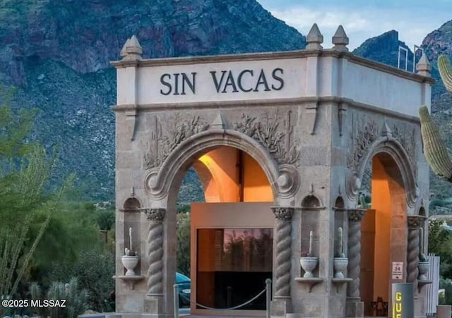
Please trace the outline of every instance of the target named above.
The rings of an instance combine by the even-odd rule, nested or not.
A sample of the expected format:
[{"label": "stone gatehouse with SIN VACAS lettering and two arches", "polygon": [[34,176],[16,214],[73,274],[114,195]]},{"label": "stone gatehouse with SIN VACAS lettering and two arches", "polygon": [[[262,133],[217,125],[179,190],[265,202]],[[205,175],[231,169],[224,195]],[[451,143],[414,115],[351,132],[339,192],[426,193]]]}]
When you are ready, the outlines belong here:
[{"label": "stone gatehouse with SIN VACAS lettering and two arches", "polygon": [[[354,56],[347,51],[342,27],[333,37],[333,49],[321,47],[316,25],[307,39],[302,51],[155,60],[142,59],[136,37],[126,42],[123,59],[113,63],[118,83],[118,312],[174,314],[175,200],[181,171],[218,147],[249,154],[271,188],[272,316],[364,314],[359,286],[365,211],[357,195],[371,158],[374,187],[384,188],[381,197],[390,201],[381,200],[388,205],[376,210],[384,212],[380,216],[391,213],[390,235],[396,238],[386,244],[384,262],[400,258],[401,281],[416,282],[416,229],[422,226],[416,211],[429,197],[416,110],[429,105],[428,66],[421,63],[420,73],[412,74]],[[209,169],[204,173],[206,180],[212,178]],[[377,185],[380,179],[383,188]],[[213,183],[208,200],[225,197],[219,187]],[[428,216],[428,206],[423,209]],[[386,228],[385,220],[377,224]],[[335,240],[341,232],[339,244]],[[333,269],[338,245],[348,258],[343,279]],[[121,262],[124,248],[139,258],[134,275],[126,275]],[[300,267],[305,250],[316,259],[314,277],[304,276]],[[389,295],[393,279],[388,277],[378,276]],[[417,291],[417,314],[422,315],[424,291]]]}]

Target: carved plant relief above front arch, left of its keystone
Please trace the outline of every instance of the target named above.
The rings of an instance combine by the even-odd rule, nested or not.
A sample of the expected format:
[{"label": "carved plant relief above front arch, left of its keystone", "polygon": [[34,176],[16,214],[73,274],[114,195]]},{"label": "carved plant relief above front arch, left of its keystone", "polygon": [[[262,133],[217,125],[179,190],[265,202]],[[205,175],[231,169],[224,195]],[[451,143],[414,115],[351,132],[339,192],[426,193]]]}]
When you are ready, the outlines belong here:
[{"label": "carved plant relief above front arch, left of its keystone", "polygon": [[153,117],[148,152],[143,161],[145,169],[160,166],[168,155],[187,138],[209,128],[201,116],[184,116],[180,113]]}]

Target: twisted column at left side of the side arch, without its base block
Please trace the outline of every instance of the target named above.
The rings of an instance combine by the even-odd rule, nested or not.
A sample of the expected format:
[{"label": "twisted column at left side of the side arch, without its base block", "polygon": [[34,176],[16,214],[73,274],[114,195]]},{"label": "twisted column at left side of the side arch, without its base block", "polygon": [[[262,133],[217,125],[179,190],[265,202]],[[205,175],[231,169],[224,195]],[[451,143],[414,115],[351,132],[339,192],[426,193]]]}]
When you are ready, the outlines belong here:
[{"label": "twisted column at left side of the side arch, without its base block", "polygon": [[365,209],[349,209],[348,214],[348,267],[347,298],[359,300],[359,276],[361,274],[361,220]]}]

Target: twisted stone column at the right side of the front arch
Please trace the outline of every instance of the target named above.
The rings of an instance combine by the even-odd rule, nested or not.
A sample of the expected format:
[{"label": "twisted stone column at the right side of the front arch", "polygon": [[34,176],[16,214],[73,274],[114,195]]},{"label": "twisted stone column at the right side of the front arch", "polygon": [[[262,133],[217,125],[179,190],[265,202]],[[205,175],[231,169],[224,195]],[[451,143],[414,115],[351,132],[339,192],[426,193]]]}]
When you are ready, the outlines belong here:
[{"label": "twisted stone column at the right side of the front arch", "polygon": [[275,297],[290,297],[290,268],[292,258],[292,207],[273,207],[275,214],[276,274]]}]

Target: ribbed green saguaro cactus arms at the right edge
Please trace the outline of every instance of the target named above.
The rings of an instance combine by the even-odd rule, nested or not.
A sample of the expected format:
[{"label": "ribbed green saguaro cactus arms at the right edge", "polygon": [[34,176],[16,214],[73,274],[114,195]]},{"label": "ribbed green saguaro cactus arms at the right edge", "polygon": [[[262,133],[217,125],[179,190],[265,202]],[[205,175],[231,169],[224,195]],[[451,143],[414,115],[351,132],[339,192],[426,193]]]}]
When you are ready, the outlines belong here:
[{"label": "ribbed green saguaro cactus arms at the right edge", "polygon": [[[452,71],[447,56],[438,58],[438,68],[446,90],[452,93]],[[421,135],[424,143],[424,154],[432,171],[439,177],[452,183],[452,161],[449,157],[446,144],[439,135],[438,128],[430,117],[427,106],[419,109],[421,121]]]}]

